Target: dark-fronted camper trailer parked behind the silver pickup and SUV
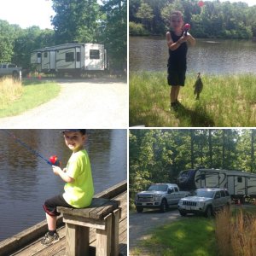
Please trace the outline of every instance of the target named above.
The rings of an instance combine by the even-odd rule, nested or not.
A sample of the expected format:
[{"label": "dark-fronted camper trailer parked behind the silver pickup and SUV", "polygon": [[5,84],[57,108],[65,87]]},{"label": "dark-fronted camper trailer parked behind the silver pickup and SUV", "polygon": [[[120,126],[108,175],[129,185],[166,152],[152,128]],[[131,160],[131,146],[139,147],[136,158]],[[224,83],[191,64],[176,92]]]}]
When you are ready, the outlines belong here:
[{"label": "dark-fronted camper trailer parked behind the silver pickup and SUV", "polygon": [[183,190],[228,189],[232,199],[256,197],[256,174],[222,169],[189,169],[179,173],[177,185]]}]

